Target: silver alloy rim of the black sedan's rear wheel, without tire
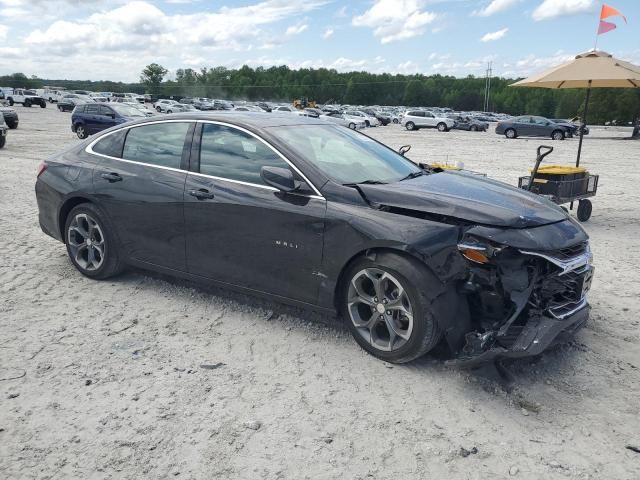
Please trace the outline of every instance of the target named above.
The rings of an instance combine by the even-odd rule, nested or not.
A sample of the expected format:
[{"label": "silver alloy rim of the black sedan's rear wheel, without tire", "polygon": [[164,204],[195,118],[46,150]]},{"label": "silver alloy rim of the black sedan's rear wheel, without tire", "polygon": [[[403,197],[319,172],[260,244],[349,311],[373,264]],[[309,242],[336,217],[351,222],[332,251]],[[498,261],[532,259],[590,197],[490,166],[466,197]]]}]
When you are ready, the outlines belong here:
[{"label": "silver alloy rim of the black sedan's rear wheel, without tire", "polygon": [[79,213],[69,224],[67,243],[76,264],[86,271],[98,270],[104,263],[104,234],[98,222]]}]

